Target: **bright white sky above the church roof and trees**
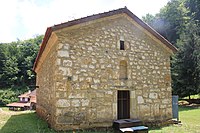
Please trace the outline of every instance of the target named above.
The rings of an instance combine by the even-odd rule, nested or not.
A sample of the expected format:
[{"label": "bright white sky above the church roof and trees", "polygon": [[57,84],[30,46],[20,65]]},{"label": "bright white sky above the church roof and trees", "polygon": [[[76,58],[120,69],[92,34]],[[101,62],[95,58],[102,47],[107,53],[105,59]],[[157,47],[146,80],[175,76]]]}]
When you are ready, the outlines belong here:
[{"label": "bright white sky above the church roof and trees", "polygon": [[1,0],[0,43],[34,38],[47,27],[127,7],[139,18],[156,14],[169,0]]}]

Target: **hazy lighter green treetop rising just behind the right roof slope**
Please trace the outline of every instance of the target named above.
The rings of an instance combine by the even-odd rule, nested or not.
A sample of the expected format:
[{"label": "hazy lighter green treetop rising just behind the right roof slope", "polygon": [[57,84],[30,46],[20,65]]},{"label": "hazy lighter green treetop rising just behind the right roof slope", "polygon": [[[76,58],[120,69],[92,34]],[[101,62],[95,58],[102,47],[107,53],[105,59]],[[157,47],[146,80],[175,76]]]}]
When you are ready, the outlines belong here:
[{"label": "hazy lighter green treetop rising just behind the right roof slope", "polygon": [[143,20],[175,44],[181,29],[184,29],[189,17],[189,10],[184,6],[185,0],[172,0],[155,16],[147,14]]}]

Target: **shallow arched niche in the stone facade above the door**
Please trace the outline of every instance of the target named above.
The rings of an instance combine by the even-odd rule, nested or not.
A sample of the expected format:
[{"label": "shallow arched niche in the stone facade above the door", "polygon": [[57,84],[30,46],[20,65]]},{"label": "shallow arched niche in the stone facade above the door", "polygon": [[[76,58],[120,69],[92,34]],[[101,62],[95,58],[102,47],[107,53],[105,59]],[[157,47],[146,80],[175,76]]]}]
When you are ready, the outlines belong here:
[{"label": "shallow arched niche in the stone facade above the door", "polygon": [[119,63],[119,79],[128,79],[127,76],[127,62],[122,60]]}]

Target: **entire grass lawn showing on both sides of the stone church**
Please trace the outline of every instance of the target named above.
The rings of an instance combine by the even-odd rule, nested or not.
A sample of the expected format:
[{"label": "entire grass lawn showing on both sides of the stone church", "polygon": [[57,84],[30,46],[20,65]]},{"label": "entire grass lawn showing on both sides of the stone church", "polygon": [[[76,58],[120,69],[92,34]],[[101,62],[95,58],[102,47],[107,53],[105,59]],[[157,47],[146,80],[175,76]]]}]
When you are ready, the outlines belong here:
[{"label": "entire grass lawn showing on both sides of the stone church", "polygon": [[[150,129],[150,133],[200,133],[200,108],[179,107],[182,125]],[[56,133],[33,111],[0,112],[0,133]],[[63,133],[63,132],[62,132]]]}]

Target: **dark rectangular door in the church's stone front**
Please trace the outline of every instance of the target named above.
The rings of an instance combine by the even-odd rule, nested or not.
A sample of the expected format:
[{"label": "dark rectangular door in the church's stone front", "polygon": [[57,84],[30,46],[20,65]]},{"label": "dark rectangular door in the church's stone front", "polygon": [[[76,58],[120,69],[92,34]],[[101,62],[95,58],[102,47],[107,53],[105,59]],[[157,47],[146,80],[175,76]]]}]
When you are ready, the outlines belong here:
[{"label": "dark rectangular door in the church's stone front", "polygon": [[129,91],[118,91],[117,115],[118,115],[118,119],[130,118],[130,92]]}]

